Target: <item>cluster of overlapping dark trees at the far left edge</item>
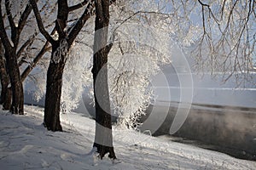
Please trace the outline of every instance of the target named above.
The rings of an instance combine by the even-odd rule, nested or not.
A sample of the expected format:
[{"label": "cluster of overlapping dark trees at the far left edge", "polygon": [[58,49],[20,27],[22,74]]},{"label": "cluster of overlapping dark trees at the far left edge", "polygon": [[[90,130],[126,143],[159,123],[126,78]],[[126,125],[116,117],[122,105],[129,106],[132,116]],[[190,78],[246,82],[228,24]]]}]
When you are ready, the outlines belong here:
[{"label": "cluster of overlapping dark trees at the far left edge", "polygon": [[[2,8],[4,4],[5,8]],[[18,8],[15,5],[18,5]],[[42,40],[38,31],[34,29],[33,16],[31,14],[32,7],[29,4],[12,1],[1,1],[1,104],[4,110],[10,110],[14,114],[23,114],[23,87],[22,82],[26,79],[32,69],[38,64],[43,55],[49,51],[48,43],[44,48],[38,50],[36,56],[32,56],[34,44],[41,45]],[[48,3],[41,3],[42,10],[47,8]],[[55,5],[49,8],[49,14],[55,8]],[[44,17],[49,17],[46,14]],[[37,50],[36,50],[37,51]],[[27,67],[27,59],[34,58]],[[22,74],[20,74],[22,71]]]}]

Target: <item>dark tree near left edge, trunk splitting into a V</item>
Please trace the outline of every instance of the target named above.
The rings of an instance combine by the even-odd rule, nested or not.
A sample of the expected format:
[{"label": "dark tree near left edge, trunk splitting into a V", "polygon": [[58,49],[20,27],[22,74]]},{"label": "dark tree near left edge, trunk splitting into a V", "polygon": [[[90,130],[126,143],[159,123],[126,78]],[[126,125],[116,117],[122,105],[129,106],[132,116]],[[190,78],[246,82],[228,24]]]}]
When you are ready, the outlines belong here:
[{"label": "dark tree near left edge, trunk splitting into a V", "polygon": [[[0,1],[0,37],[4,47],[4,57],[6,59],[6,68],[9,73],[10,86],[12,88],[12,105],[11,111],[15,114],[23,114],[23,86],[20,77],[18,65],[18,54],[16,51],[19,47],[20,34],[26,25],[26,20],[32,11],[30,5],[26,2],[20,4],[20,8],[15,7],[16,2],[6,0],[4,2],[6,17],[9,21],[10,33],[5,29],[2,12],[2,1]],[[13,16],[13,10],[18,11]],[[21,12],[22,11],[22,12]],[[10,34],[10,36],[9,36]],[[7,89],[7,88],[3,88]]]}]

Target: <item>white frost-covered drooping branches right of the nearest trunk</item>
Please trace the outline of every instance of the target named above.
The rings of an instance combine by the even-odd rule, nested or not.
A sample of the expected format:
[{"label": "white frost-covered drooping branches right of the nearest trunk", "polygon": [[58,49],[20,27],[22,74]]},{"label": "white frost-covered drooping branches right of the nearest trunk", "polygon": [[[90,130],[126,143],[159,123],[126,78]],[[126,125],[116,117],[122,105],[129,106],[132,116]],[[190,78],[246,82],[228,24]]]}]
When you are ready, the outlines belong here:
[{"label": "white frost-covered drooping branches right of the nearest trunk", "polygon": [[[161,52],[165,48],[170,50],[172,45],[166,44],[168,41],[164,41],[163,37],[171,37],[169,40],[171,44],[176,43],[178,47],[183,49],[183,52],[188,55],[191,66],[196,66],[199,69],[197,71],[211,72],[213,76],[222,74],[224,81],[232,76],[236,77],[237,82],[250,80],[250,75],[253,73],[253,59],[255,59],[255,1],[166,0],[157,2],[131,1],[131,4],[127,6],[125,5],[127,2],[123,4],[123,10],[116,14],[122,14],[126,10],[125,13],[127,14],[130,11],[129,14],[132,17],[127,17],[126,15],[127,20],[123,19],[123,21],[128,23],[128,26],[126,28],[124,25],[120,26],[121,29],[117,31],[117,37],[121,37],[120,35],[125,35],[126,38],[130,37],[131,44],[131,40],[136,40],[136,38],[131,38],[131,36],[127,35],[147,37],[148,32],[144,34],[137,34],[137,32],[139,32],[140,28],[150,26],[148,30],[159,32],[157,36],[151,36],[151,39],[148,38],[146,43],[150,44],[149,42],[151,41],[158,42],[159,46],[155,46],[157,48],[154,51]],[[119,15],[119,17],[121,16]],[[137,22],[131,19],[137,20]],[[141,23],[141,26],[138,23]],[[132,24],[137,26],[137,31],[132,29]],[[131,31],[125,33],[129,29]],[[155,37],[160,37],[160,41]],[[165,45],[168,47],[165,47]],[[124,44],[120,45],[120,47],[120,50],[112,51],[114,53],[119,52],[119,54],[124,53]],[[128,47],[126,47],[126,50]],[[133,44],[128,49],[130,50],[129,53],[138,54],[135,53],[135,50],[131,52],[131,47],[138,48],[137,44]],[[154,45],[151,47],[154,47]],[[138,51],[142,53],[143,50]],[[110,81],[113,81],[112,83],[114,84],[112,99],[115,111],[119,112],[121,117],[124,116],[122,122],[126,122],[126,125],[127,122],[131,122],[128,124],[133,126],[134,120],[137,120],[137,116],[143,113],[143,108],[146,108],[143,107],[143,104],[145,104],[143,101],[148,100],[150,93],[143,95],[143,93],[147,92],[142,90],[146,89],[143,88],[143,84],[147,86],[147,81],[150,81],[150,76],[146,76],[147,72],[149,73],[148,75],[154,75],[159,69],[153,66],[156,62],[152,62],[152,60],[160,61],[164,59],[162,55],[159,55],[161,57],[158,59],[150,59],[148,64],[152,66],[152,70],[154,70],[153,68],[156,69],[151,71],[150,67],[147,69],[147,66],[143,63],[143,61],[147,61],[147,58],[151,58],[150,53],[152,53],[152,50],[146,48],[141,56],[147,57],[141,58],[142,61],[137,57],[130,57],[129,59],[127,57],[125,59],[119,57],[121,55],[113,57],[117,63],[121,61],[121,66],[119,66],[119,69],[116,68],[118,67],[117,65],[113,66],[113,77],[116,78],[110,78]],[[170,50],[169,56],[171,60],[172,55]],[[157,58],[158,55],[153,54],[152,56]],[[110,63],[111,59],[110,54]],[[165,61],[163,62],[165,63]],[[129,69],[124,68],[126,66],[125,63]],[[140,67],[143,68],[143,71],[139,71],[138,68]],[[191,67],[191,69],[193,68]],[[143,74],[140,75],[140,72]],[[138,75],[141,78],[138,78]],[[143,80],[142,77],[145,79]]]}]

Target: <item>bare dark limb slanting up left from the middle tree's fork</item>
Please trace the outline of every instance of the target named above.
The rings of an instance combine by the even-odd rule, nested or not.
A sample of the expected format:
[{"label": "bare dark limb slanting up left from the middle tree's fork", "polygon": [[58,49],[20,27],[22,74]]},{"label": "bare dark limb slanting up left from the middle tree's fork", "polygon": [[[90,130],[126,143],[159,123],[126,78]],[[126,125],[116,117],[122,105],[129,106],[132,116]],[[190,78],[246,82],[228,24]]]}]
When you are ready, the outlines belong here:
[{"label": "bare dark limb slanting up left from the middle tree's fork", "polygon": [[49,32],[44,29],[44,24],[41,18],[41,15],[38,11],[38,5],[35,2],[35,0],[29,0],[30,4],[32,5],[32,9],[34,11],[34,14],[36,16],[36,20],[38,22],[38,29],[39,31],[44,35],[47,41],[49,41],[51,44],[55,42],[55,40],[49,35]]}]

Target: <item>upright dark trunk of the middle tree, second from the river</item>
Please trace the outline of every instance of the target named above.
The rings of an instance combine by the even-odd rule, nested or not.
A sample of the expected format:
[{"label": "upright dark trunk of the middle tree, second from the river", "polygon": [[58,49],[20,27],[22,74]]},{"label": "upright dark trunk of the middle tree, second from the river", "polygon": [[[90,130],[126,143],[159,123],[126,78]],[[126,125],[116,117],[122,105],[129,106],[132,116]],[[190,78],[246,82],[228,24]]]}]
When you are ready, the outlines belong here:
[{"label": "upright dark trunk of the middle tree, second from the river", "polygon": [[[55,28],[59,41],[51,42],[52,54],[47,71],[44,126],[51,131],[62,131],[60,121],[62,76],[70,45],[67,42],[67,0],[58,0],[58,14]],[[55,59],[57,58],[57,60]]]}]

